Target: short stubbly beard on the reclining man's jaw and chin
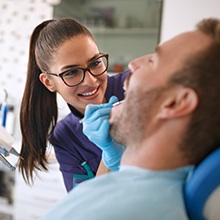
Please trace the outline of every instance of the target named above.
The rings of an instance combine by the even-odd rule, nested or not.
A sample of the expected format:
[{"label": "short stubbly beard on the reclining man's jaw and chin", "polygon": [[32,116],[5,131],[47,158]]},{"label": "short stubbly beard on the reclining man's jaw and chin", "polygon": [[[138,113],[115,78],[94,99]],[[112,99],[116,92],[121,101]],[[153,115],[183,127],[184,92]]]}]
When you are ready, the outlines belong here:
[{"label": "short stubbly beard on the reclining man's jaw and chin", "polygon": [[122,111],[110,128],[111,137],[123,146],[138,144],[149,135],[148,127],[157,110],[158,99],[164,87],[157,87],[140,95],[137,91],[127,95]]}]

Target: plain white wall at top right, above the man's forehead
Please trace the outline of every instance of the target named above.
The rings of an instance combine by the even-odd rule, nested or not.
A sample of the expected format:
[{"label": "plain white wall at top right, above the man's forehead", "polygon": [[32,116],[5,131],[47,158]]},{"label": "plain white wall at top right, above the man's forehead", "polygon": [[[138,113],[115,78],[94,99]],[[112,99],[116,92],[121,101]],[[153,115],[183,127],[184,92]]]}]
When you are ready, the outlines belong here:
[{"label": "plain white wall at top right, above the man's forehead", "polygon": [[220,18],[220,0],[164,0],[161,41],[193,29],[207,17]]}]

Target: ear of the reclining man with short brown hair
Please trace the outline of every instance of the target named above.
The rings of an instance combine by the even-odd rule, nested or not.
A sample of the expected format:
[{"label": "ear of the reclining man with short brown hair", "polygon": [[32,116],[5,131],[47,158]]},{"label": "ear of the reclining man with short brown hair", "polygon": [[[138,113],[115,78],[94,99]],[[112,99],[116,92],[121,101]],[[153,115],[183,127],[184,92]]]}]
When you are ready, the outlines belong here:
[{"label": "ear of the reclining man with short brown hair", "polygon": [[177,88],[160,105],[158,118],[182,117],[192,113],[198,105],[198,95],[190,88]]}]

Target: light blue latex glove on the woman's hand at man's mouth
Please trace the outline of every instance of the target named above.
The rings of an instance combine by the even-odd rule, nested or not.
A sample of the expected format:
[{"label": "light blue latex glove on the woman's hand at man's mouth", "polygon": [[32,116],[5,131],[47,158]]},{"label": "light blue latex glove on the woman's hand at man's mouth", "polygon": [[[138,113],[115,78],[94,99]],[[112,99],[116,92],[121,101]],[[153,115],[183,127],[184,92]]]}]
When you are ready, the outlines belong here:
[{"label": "light blue latex glove on the woman's hand at man's mouth", "polygon": [[112,96],[108,103],[87,105],[83,119],[83,133],[102,150],[103,163],[110,170],[119,169],[121,156],[125,149],[109,135],[108,119],[112,104],[117,101],[118,98]]}]

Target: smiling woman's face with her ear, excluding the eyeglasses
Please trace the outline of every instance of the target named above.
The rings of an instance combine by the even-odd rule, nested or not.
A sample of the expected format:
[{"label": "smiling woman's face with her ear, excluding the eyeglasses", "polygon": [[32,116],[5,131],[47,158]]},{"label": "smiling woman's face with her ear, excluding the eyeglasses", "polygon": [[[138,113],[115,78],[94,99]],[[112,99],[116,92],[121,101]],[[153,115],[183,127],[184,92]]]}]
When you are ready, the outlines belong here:
[{"label": "smiling woman's face with her ear, excluding the eyeglasses", "polygon": [[[92,60],[100,56],[96,43],[88,36],[79,35],[62,44],[50,67],[51,73],[61,73],[71,68],[86,68]],[[60,77],[42,73],[41,82],[52,92],[58,92],[63,99],[82,114],[89,103],[105,102],[107,72],[93,76],[86,71],[85,79],[74,87],[67,86]]]}]

